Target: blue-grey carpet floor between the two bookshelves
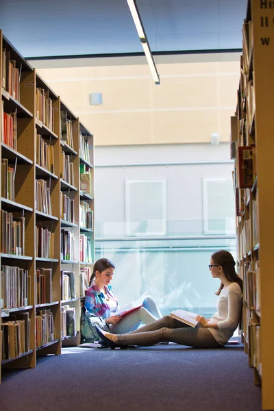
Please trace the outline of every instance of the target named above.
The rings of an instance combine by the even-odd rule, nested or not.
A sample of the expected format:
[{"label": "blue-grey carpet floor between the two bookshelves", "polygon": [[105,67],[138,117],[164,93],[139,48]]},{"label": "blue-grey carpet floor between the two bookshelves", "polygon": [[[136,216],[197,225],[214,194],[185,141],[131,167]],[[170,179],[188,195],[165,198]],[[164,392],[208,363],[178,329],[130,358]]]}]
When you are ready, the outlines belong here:
[{"label": "blue-grey carpet floor between the two bookshelves", "polygon": [[66,348],[36,369],[4,372],[1,411],[259,411],[242,345]]}]

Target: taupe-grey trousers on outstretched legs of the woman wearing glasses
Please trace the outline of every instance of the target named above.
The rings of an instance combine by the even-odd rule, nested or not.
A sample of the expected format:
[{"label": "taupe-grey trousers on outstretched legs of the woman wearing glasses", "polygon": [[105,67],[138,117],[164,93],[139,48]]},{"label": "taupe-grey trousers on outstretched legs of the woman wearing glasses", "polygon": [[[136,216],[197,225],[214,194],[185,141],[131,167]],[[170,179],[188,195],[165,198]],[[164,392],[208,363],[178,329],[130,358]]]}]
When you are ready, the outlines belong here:
[{"label": "taupe-grey trousers on outstretched legs of the woman wearing glasses", "polygon": [[164,316],[149,325],[144,325],[128,334],[118,334],[119,345],[154,345],[162,341],[170,341],[195,348],[220,348],[208,328],[189,327],[188,325]]}]

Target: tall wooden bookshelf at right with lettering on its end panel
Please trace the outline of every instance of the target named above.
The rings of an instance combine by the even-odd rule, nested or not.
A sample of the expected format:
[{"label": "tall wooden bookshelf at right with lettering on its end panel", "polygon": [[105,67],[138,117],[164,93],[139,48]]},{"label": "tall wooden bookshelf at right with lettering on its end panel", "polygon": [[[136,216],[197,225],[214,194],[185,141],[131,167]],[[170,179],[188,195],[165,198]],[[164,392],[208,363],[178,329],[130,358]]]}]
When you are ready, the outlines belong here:
[{"label": "tall wooden bookshelf at right with lettering on its end panel", "polygon": [[238,271],[244,281],[242,338],[262,409],[274,410],[273,93],[274,8],[250,0],[242,27],[242,56],[231,153],[235,160]]}]

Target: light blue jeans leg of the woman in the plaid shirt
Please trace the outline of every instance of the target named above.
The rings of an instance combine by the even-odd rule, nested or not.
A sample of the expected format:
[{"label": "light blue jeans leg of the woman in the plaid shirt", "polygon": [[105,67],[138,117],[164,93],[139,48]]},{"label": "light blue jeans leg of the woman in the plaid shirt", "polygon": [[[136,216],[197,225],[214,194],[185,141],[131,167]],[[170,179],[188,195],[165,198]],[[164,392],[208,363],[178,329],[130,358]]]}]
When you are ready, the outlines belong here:
[{"label": "light blue jeans leg of the woman in the plaid shirt", "polygon": [[113,334],[125,334],[138,329],[140,323],[150,324],[156,320],[151,312],[144,307],[140,307],[138,310],[123,316],[119,323],[110,325],[110,331]]}]

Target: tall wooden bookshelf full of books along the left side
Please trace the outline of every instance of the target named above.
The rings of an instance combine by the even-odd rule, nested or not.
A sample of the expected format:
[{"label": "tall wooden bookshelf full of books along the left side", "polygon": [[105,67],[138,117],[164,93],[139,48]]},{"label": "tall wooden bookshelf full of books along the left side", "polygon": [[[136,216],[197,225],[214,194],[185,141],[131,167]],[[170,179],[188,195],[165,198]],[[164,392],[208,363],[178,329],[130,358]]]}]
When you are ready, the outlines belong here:
[{"label": "tall wooden bookshelf full of books along the left side", "polygon": [[80,343],[82,271],[95,258],[93,135],[1,31],[0,56],[1,368],[23,369]]}]

